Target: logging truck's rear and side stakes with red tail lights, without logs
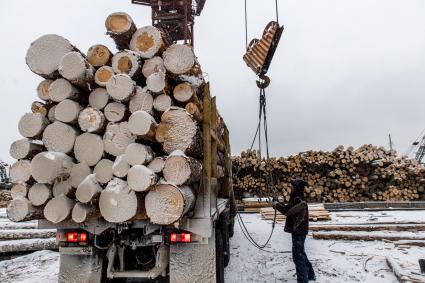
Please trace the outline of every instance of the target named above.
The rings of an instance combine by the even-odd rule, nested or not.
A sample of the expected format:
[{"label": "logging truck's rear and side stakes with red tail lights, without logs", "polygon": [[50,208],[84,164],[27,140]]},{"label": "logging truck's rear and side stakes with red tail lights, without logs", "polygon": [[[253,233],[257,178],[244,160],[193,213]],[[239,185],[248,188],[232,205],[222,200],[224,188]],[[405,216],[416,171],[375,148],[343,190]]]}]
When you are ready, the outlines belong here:
[{"label": "logging truck's rear and side stakes with red tail lights, without logs", "polygon": [[[224,127],[221,142],[215,97],[211,98],[208,85],[203,106],[203,172],[193,211],[171,226],[154,225],[148,219],[57,225],[39,220],[39,228],[57,229],[59,282],[161,277],[179,283],[224,282],[235,216],[229,132]],[[225,155],[225,177],[220,180],[218,148]]]}]

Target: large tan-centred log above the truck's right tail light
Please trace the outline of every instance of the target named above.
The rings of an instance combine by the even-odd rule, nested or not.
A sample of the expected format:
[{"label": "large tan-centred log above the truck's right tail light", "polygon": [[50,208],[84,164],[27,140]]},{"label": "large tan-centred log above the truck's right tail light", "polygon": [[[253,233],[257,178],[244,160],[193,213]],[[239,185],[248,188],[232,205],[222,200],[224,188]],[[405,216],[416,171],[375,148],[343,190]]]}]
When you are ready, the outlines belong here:
[{"label": "large tan-centred log above the truck's right tail light", "polygon": [[195,194],[190,187],[160,184],[145,198],[146,213],[151,223],[170,225],[180,220],[195,205]]}]

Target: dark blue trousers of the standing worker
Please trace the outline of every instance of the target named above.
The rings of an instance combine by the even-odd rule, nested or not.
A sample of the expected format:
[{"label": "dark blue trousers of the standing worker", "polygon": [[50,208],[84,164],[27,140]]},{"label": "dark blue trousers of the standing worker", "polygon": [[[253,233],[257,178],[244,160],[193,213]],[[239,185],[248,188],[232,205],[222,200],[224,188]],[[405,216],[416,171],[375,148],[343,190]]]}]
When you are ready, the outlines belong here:
[{"label": "dark blue trousers of the standing worker", "polygon": [[313,266],[304,250],[306,234],[292,234],[292,259],[297,271],[297,283],[308,283],[315,278]]}]

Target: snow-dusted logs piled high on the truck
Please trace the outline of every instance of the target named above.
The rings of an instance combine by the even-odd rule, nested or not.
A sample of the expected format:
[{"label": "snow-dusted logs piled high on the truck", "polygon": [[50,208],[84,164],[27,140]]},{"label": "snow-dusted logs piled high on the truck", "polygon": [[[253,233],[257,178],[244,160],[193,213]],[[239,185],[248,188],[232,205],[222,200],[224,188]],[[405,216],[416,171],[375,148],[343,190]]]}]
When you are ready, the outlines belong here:
[{"label": "snow-dusted logs piled high on the truck", "polygon": [[100,44],[83,54],[58,35],[28,50],[44,80],[10,148],[12,221],[170,225],[195,205],[206,84],[193,49],[125,13],[105,25],[115,54]]}]

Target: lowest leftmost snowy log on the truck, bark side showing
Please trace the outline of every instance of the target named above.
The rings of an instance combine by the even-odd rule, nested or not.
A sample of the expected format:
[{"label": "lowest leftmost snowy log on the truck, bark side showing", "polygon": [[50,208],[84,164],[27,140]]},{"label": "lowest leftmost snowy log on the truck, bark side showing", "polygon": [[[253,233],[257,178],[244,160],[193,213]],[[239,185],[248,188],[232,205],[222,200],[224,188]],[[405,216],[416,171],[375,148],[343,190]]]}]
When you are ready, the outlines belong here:
[{"label": "lowest leftmost snowy log on the truck, bark side showing", "polygon": [[34,207],[31,202],[23,197],[18,197],[9,202],[6,209],[7,218],[13,222],[37,220],[43,218],[43,210]]}]

